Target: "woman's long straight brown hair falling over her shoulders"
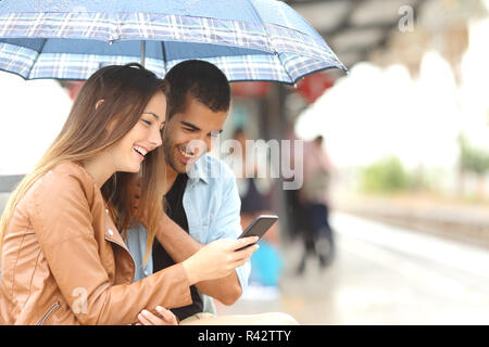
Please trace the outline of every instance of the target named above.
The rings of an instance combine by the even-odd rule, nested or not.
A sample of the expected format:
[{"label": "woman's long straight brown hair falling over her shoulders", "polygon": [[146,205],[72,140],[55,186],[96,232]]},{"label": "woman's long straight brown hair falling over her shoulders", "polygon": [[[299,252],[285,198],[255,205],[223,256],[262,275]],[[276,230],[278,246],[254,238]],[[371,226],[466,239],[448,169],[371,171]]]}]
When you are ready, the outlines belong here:
[{"label": "woman's long straight brown hair falling over her shoulders", "polygon": [[[12,192],[0,221],[0,247],[17,204],[40,177],[60,163],[82,163],[114,145],[139,121],[151,98],[158,92],[166,95],[167,88],[163,79],[137,63],[105,66],[91,75],[80,89],[54,142],[34,170]],[[103,102],[99,102],[101,100]],[[145,262],[163,208],[164,170],[164,155],[162,146],[159,146],[146,155],[140,171],[141,197],[138,210],[146,211],[148,228]],[[100,188],[123,233],[131,221],[127,183],[134,175],[116,172]]]}]

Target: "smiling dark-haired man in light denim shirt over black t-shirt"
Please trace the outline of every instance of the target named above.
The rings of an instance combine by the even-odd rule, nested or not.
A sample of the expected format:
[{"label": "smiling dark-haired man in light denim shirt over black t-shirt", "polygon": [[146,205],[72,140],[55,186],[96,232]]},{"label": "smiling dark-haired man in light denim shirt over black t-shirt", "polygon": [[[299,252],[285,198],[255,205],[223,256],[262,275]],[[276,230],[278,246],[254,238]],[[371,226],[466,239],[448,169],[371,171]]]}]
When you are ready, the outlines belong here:
[{"label": "smiling dark-haired man in light denim shirt over black t-shirt", "polygon": [[[185,61],[165,77],[171,85],[163,149],[166,158],[168,220],[154,241],[152,256],[143,265],[147,231],[129,230],[127,244],[135,258],[135,280],[179,262],[204,244],[236,239],[241,233],[240,198],[233,171],[209,156],[222,132],[230,105],[226,76],[203,61]],[[172,309],[179,319],[214,312],[214,297],[234,304],[247,286],[250,265],[226,278],[191,286],[192,305]]]}]

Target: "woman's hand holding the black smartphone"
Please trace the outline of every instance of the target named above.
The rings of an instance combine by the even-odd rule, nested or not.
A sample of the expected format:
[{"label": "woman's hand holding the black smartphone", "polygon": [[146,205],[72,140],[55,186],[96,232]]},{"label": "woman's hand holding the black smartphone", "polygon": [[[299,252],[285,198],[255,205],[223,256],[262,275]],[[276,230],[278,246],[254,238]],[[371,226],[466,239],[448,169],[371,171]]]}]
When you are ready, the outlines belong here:
[{"label": "woman's hand holding the black smartphone", "polygon": [[[236,268],[243,266],[259,248],[253,245],[258,241],[258,236],[221,239],[205,245],[183,262],[190,284],[229,275]],[[241,247],[247,248],[237,250]]]}]

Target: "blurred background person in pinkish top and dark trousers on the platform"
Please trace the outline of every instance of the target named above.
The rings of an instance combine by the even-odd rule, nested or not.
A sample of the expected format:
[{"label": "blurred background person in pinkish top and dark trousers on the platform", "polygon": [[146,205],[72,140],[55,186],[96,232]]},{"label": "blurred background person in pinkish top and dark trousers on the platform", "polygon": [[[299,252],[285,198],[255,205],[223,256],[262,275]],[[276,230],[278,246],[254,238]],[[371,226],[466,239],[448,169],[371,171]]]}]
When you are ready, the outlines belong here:
[{"label": "blurred background person in pinkish top and dark trousers on the platform", "polygon": [[316,256],[321,268],[325,268],[331,264],[335,254],[328,201],[331,163],[323,142],[322,136],[304,142],[304,176],[299,191],[304,250],[297,270],[299,274],[305,271],[310,255]]}]

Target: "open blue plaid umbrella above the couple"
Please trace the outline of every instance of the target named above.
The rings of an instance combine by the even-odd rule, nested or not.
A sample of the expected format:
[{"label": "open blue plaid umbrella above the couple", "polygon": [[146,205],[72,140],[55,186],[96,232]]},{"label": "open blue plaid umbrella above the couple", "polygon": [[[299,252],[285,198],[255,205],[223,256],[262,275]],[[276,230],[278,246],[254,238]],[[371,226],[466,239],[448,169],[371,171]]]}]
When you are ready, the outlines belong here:
[{"label": "open blue plaid umbrella above the couple", "polygon": [[0,69],[25,79],[87,79],[101,66],[135,61],[163,77],[189,59],[217,65],[229,81],[294,83],[317,70],[347,70],[281,1],[0,1]]}]

